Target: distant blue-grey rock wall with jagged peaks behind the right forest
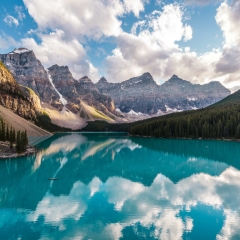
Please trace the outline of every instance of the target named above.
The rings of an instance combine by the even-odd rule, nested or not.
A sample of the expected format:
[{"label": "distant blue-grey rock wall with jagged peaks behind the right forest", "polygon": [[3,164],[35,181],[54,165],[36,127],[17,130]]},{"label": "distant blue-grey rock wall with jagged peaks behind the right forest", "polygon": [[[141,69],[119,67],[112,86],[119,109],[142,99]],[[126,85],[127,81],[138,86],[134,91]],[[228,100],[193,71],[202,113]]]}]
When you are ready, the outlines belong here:
[{"label": "distant blue-grey rock wall with jagged peaks behind the right forest", "polygon": [[146,114],[203,108],[230,94],[219,82],[192,84],[176,75],[159,86],[150,73],[122,83],[109,83],[101,78],[96,86],[110,96],[122,112],[133,110]]}]

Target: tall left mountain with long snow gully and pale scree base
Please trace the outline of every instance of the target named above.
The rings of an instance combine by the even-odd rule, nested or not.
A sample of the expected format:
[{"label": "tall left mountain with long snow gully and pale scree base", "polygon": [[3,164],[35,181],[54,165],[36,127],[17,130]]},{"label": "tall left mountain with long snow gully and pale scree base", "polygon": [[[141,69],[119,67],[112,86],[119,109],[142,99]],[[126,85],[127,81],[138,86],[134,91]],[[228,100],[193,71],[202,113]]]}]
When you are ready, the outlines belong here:
[{"label": "tall left mountain with long snow gully and pale scree base", "polygon": [[34,52],[26,48],[0,54],[0,60],[21,85],[22,92],[52,123],[75,130],[96,119],[121,121],[113,100],[101,94],[88,77],[75,80],[67,66],[45,69]]}]

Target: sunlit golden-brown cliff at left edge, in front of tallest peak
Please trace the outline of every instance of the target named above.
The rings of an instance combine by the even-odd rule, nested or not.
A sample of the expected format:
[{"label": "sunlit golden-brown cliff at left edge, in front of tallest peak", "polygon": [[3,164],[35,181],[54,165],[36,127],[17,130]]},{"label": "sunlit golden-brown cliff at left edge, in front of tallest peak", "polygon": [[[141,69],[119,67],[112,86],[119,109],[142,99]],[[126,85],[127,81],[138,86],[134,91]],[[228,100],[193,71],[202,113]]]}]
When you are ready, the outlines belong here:
[{"label": "sunlit golden-brown cliff at left edge, in front of tallest peak", "polygon": [[9,70],[0,63],[0,105],[25,119],[35,121],[38,110],[34,101],[36,99],[27,98]]}]

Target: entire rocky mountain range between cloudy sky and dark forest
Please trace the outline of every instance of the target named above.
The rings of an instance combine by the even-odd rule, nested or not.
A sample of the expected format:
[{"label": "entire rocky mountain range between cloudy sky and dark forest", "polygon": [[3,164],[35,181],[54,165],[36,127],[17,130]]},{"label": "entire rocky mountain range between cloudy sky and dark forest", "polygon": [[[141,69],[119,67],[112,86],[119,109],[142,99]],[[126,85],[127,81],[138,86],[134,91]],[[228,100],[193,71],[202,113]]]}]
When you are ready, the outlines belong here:
[{"label": "entire rocky mountain range between cloudy sky and dark forest", "polygon": [[38,124],[43,116],[70,129],[95,120],[123,123],[201,109],[230,94],[219,82],[192,84],[176,75],[158,85],[150,73],[121,83],[102,77],[94,84],[87,76],[74,79],[67,66],[45,69],[26,48],[0,54],[0,60],[8,69],[0,66],[1,105]]}]

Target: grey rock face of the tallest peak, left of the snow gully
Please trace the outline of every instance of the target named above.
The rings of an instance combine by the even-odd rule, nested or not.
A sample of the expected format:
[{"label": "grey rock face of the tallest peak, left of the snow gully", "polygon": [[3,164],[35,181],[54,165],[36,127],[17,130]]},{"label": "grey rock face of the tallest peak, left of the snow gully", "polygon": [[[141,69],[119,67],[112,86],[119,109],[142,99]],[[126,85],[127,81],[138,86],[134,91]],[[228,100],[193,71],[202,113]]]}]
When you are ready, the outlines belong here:
[{"label": "grey rock face of the tallest peak, left of the snow gully", "polygon": [[43,102],[54,107],[61,106],[59,96],[52,87],[48,74],[33,51],[25,48],[15,49],[8,54],[0,54],[0,60],[13,74],[16,81],[31,88]]}]

